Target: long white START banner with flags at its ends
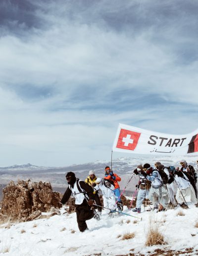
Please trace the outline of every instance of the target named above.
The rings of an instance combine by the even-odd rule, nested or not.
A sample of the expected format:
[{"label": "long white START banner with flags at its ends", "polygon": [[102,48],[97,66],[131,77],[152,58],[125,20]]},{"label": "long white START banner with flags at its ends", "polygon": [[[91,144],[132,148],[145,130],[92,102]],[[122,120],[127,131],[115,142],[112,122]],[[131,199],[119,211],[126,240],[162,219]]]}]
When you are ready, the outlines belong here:
[{"label": "long white START banner with flags at its ends", "polygon": [[119,124],[113,151],[152,155],[198,154],[198,130],[174,135]]}]

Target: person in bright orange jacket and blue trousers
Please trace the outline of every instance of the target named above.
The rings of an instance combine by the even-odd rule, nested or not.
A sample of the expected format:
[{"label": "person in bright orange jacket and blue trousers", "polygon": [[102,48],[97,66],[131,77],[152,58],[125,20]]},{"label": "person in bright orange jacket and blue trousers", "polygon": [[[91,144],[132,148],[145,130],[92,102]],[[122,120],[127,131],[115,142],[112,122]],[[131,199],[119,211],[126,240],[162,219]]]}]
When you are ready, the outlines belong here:
[{"label": "person in bright orange jacket and blue trousers", "polygon": [[109,166],[106,166],[104,179],[108,180],[114,186],[113,192],[117,200],[117,206],[118,206],[118,209],[122,211],[123,205],[122,205],[121,196],[120,196],[120,186],[118,184],[118,182],[121,181],[121,178],[117,174],[113,173],[113,171],[111,171]]}]

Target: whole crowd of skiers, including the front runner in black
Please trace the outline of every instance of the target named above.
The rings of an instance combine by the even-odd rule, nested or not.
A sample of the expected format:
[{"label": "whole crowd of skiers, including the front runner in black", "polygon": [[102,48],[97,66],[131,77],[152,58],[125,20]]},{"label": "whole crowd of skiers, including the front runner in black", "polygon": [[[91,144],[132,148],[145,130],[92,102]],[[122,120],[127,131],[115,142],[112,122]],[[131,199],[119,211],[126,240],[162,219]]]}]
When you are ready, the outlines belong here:
[{"label": "whole crowd of skiers, including the front runner in black", "polygon": [[[174,208],[177,204],[188,209],[188,202],[193,202],[198,207],[197,173],[185,160],[180,164],[181,168],[166,167],[160,162],[156,162],[154,167],[148,163],[137,166],[132,174],[132,177],[139,176],[139,182],[136,185],[136,190],[139,191],[134,212],[141,213],[142,203],[146,199],[152,203],[151,210],[156,209],[156,211],[165,211]],[[95,172],[91,170],[85,181],[76,178],[73,172],[66,174],[66,180],[69,186],[60,203],[65,204],[73,193],[78,227],[81,232],[88,229],[86,220],[100,219],[102,208],[107,211],[109,217],[112,217],[114,212],[122,212],[122,193],[118,184],[121,178],[113,173],[109,166],[105,167],[103,178],[97,178]],[[102,194],[103,206],[99,191]]]}]

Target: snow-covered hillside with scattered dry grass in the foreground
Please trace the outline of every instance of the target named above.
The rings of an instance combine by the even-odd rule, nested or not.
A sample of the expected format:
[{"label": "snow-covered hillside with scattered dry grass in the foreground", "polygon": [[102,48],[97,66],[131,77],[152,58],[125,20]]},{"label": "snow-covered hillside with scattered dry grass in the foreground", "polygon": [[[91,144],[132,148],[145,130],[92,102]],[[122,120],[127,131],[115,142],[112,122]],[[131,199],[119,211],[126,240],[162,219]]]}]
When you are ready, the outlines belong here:
[{"label": "snow-covered hillside with scattered dry grass in the foreground", "polygon": [[[126,207],[126,206],[125,206]],[[148,206],[149,207],[149,206]],[[119,215],[109,218],[102,211],[100,221],[87,221],[89,231],[81,233],[76,222],[76,213],[61,214],[49,219],[10,225],[0,225],[0,255],[6,256],[156,256],[198,255],[198,208],[180,208],[166,212],[145,211],[136,214],[124,209],[125,213],[141,219]],[[64,207],[61,213],[65,212]],[[149,228],[149,217],[164,236],[164,245],[145,246]],[[122,240],[125,233],[134,233],[134,238]],[[169,252],[165,254],[163,252]],[[180,254],[180,253],[181,254]]]}]

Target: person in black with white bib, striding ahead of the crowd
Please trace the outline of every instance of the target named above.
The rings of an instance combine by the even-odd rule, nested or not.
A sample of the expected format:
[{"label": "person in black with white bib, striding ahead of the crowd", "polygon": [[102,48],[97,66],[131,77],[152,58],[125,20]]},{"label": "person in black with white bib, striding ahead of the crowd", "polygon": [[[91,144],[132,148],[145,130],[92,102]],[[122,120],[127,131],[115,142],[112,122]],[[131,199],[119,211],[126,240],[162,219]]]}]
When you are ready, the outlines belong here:
[{"label": "person in black with white bib, striding ahead of the crowd", "polygon": [[94,217],[94,211],[91,206],[94,203],[93,189],[84,181],[76,178],[73,172],[66,174],[68,188],[63,194],[60,203],[65,204],[73,193],[75,197],[76,217],[78,228],[81,232],[88,230],[86,220]]}]

